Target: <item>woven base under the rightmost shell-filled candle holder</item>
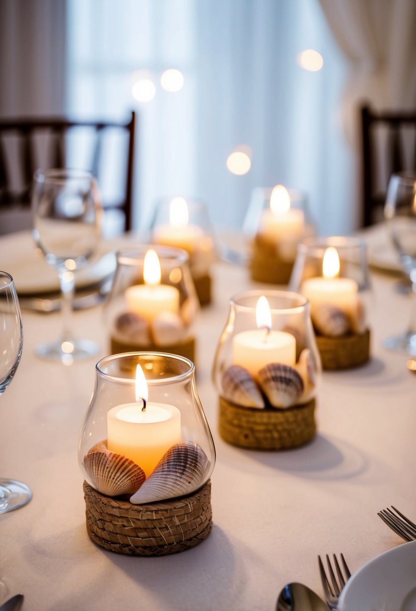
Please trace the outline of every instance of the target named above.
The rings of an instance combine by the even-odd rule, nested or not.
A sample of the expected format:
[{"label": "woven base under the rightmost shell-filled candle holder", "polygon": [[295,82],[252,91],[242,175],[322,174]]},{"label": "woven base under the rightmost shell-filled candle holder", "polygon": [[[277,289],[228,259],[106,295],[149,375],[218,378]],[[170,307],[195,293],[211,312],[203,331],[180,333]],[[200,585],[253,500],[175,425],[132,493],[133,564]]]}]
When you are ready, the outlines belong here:
[{"label": "woven base under the rightmost shell-filled candle holder", "polygon": [[317,338],[323,369],[337,370],[360,367],[370,359],[370,331],[346,337]]}]

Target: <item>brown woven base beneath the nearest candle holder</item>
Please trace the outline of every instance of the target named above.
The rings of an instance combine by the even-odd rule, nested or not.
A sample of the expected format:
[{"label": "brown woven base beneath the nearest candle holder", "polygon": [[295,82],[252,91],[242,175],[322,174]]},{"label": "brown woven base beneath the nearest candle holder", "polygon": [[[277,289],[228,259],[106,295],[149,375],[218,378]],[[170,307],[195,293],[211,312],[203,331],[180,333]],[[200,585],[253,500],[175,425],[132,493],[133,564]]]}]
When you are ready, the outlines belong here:
[{"label": "brown woven base beneath the nearest candle holder", "polygon": [[181,499],[132,505],[100,494],[84,481],[87,532],[104,549],[135,556],[178,554],[212,528],[211,482]]}]

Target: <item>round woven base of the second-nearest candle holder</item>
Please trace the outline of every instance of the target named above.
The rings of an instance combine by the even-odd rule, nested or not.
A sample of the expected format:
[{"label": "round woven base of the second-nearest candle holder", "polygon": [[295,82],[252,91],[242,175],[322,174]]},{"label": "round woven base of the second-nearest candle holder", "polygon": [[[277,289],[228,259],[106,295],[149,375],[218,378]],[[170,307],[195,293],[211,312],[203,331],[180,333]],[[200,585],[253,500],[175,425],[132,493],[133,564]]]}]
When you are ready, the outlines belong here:
[{"label": "round woven base of the second-nearest candle holder", "polygon": [[229,444],[282,450],[306,444],[316,432],[315,400],[287,409],[242,408],[220,397],[218,426]]}]

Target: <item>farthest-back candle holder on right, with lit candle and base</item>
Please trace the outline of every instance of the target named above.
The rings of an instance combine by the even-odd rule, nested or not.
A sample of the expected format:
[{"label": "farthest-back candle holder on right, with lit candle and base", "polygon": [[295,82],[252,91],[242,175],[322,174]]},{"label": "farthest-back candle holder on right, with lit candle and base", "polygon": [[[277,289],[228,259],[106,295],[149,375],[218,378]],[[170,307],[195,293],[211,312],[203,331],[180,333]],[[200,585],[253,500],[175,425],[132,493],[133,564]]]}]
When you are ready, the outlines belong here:
[{"label": "farthest-back candle holder on right, with lit candle and base", "polygon": [[251,278],[289,283],[298,243],[314,235],[306,194],[283,185],[253,189],[244,222],[251,240]]}]

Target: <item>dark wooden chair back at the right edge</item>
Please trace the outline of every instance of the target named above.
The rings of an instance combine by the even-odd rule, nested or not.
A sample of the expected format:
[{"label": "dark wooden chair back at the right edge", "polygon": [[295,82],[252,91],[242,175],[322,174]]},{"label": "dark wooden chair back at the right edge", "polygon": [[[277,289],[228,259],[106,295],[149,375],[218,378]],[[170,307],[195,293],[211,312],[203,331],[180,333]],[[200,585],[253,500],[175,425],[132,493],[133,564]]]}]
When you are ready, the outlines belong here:
[{"label": "dark wooden chair back at the right edge", "polygon": [[387,185],[393,172],[416,170],[416,110],[361,109],[362,225],[381,221]]}]

